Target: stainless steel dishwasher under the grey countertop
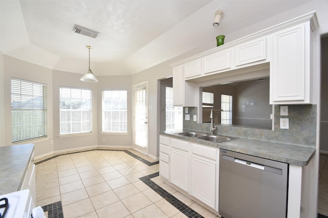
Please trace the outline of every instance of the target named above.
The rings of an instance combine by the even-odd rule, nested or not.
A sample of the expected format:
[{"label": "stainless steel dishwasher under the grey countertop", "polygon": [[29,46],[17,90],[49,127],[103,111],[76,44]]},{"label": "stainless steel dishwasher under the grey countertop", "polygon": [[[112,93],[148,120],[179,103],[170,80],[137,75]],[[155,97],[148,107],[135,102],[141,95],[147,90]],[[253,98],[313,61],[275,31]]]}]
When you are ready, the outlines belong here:
[{"label": "stainless steel dishwasher under the grey countertop", "polygon": [[220,149],[220,215],[286,217],[288,168],[287,163]]}]

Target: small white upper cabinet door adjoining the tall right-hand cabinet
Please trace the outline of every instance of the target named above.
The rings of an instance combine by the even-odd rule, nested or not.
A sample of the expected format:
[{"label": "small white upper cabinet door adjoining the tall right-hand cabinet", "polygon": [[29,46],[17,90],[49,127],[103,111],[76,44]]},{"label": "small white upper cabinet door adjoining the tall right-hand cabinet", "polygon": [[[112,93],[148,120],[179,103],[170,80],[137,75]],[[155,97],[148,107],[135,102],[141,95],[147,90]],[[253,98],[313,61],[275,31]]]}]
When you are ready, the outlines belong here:
[{"label": "small white upper cabinet door adjoining the tall right-hand cabinet", "polygon": [[236,66],[267,58],[265,38],[243,43],[236,47]]}]

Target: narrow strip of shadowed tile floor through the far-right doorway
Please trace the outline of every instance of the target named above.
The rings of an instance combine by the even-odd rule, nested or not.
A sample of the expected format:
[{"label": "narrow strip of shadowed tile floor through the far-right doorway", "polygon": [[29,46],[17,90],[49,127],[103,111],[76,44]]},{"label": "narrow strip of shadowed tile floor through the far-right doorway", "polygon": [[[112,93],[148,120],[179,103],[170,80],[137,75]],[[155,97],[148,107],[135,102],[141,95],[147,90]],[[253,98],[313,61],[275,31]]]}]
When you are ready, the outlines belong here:
[{"label": "narrow strip of shadowed tile floor through the far-right doorway", "polygon": [[320,155],[318,213],[328,217],[328,155]]}]

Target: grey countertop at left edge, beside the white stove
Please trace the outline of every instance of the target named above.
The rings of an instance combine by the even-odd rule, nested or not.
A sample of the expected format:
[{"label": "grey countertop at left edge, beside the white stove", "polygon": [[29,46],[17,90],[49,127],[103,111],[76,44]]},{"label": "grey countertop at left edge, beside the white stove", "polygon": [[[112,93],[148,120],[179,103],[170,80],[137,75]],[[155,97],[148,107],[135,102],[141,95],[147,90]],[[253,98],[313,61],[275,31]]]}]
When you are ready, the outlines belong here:
[{"label": "grey countertop at left edge, beside the white stove", "polygon": [[0,195],[20,190],[34,144],[0,147]]}]

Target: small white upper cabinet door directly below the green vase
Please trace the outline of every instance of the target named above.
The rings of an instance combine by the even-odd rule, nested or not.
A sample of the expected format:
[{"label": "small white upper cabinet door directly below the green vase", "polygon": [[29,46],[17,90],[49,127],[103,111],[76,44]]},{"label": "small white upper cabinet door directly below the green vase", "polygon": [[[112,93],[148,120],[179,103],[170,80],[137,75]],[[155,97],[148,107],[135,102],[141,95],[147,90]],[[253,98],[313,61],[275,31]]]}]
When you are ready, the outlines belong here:
[{"label": "small white upper cabinet door directly below the green vase", "polygon": [[228,69],[231,67],[230,50],[223,51],[204,58],[204,73],[217,70]]}]

